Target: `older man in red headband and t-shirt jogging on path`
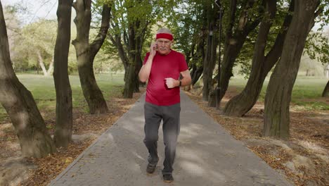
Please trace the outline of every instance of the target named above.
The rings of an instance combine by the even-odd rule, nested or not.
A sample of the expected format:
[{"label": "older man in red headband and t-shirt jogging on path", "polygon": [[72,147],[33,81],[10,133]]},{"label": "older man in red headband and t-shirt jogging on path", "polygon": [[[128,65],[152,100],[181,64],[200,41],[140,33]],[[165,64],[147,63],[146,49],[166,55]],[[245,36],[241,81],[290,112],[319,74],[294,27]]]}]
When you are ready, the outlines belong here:
[{"label": "older man in red headband and t-shirt jogging on path", "polygon": [[[141,82],[148,80],[146,89],[145,138],[148,148],[146,172],[155,172],[157,161],[157,140],[161,120],[163,121],[164,162],[163,180],[172,182],[176,143],[179,135],[179,116],[181,111],[179,87],[191,84],[191,75],[183,54],[171,49],[173,35],[167,28],[157,31],[156,41],[150,46],[143,66],[139,72]],[[179,79],[180,75],[183,77]]]}]

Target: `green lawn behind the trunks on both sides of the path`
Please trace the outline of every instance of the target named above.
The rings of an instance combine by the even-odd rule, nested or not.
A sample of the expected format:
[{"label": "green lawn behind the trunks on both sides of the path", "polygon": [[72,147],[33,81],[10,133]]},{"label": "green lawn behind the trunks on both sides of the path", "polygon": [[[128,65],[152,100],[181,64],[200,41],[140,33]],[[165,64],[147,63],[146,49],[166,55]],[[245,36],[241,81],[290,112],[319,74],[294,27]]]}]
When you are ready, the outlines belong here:
[{"label": "green lawn behind the trunks on both sides of the path", "polygon": [[[96,75],[96,81],[103,92],[105,100],[108,100],[112,95],[118,95],[123,92],[123,76],[123,74]],[[32,92],[39,110],[41,113],[44,113],[43,116],[45,119],[53,117],[56,109],[56,93],[53,85],[53,76],[19,74],[18,78]],[[292,104],[297,106],[297,109],[329,110],[329,104],[321,97],[327,81],[323,77],[298,76],[292,90]],[[247,80],[242,76],[235,76],[231,78],[229,86],[235,87],[236,91],[240,92],[246,83]],[[269,78],[266,78],[259,96],[259,101],[261,102],[264,102],[268,83]],[[82,94],[78,75],[70,75],[70,85],[72,88],[73,107],[82,109],[87,113],[88,106]],[[6,111],[0,106],[0,123],[7,123],[8,121],[9,118]]]}]

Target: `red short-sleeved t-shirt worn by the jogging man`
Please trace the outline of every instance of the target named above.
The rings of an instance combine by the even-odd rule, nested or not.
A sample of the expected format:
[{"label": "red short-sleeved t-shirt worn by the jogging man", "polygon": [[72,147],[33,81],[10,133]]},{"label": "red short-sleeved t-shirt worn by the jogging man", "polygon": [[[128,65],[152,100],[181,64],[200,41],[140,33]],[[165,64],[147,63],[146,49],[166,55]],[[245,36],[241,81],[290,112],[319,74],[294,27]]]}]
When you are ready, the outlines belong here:
[{"label": "red short-sleeved t-shirt worn by the jogging man", "polygon": [[[150,53],[146,54],[143,64],[148,61]],[[179,79],[181,72],[188,70],[183,54],[177,51],[170,51],[167,55],[157,53],[153,58],[148,87],[146,88],[146,101],[158,106],[169,106],[178,104],[181,101],[179,87],[169,89],[164,78],[172,77]]]}]

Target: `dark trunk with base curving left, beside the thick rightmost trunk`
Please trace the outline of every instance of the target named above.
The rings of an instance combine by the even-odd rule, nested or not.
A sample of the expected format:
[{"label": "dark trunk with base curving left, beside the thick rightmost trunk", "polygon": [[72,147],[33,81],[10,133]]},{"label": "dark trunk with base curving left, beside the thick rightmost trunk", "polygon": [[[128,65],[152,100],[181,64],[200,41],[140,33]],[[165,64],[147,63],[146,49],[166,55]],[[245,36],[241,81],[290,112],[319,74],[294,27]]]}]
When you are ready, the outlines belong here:
[{"label": "dark trunk with base curving left, beside the thick rightmost trunk", "polygon": [[[292,6],[290,6],[290,8],[291,7]],[[243,91],[236,97],[230,99],[230,101],[228,101],[226,104],[223,113],[227,116],[243,116],[245,113],[247,113],[247,111],[252,109],[252,106],[254,106],[256,103],[259,97],[259,93],[262,90],[262,86],[267,73],[269,73],[269,70],[280,57],[280,52],[282,51],[284,36],[286,33],[285,30],[283,30],[284,35],[278,35],[276,43],[272,46],[273,48],[269,52],[269,54],[271,54],[271,52],[278,51],[278,54],[276,54],[276,56],[271,55],[271,58],[267,58],[268,61],[266,61],[266,57],[264,56],[269,30],[271,28],[273,18],[276,14],[276,1],[266,1],[266,11],[269,15],[269,18],[264,18],[261,25],[259,26],[257,42],[254,45],[254,56],[252,58],[252,70],[250,77],[248,79],[247,85],[245,86],[245,89],[243,89]],[[290,18],[289,20],[291,20],[289,13],[288,16]],[[283,28],[285,27],[286,26]],[[282,36],[283,38],[281,38]],[[280,43],[278,43],[279,41]],[[279,47],[281,50],[274,49],[275,47]],[[271,65],[271,68],[267,68],[268,71],[265,70],[266,65]]]}]

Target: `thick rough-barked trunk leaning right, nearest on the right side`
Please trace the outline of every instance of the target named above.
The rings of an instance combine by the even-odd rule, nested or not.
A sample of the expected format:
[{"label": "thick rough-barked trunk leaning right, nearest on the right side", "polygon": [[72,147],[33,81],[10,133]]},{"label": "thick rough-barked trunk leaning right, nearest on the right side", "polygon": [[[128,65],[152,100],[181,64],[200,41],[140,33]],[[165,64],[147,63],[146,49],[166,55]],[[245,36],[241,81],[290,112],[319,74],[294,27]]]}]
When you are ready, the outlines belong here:
[{"label": "thick rough-barked trunk leaning right, nearest on the right side", "polygon": [[271,75],[266,90],[264,109],[264,136],[289,137],[292,87],[298,73],[304,44],[314,23],[318,0],[295,1],[292,23],[285,37],[283,53]]}]

